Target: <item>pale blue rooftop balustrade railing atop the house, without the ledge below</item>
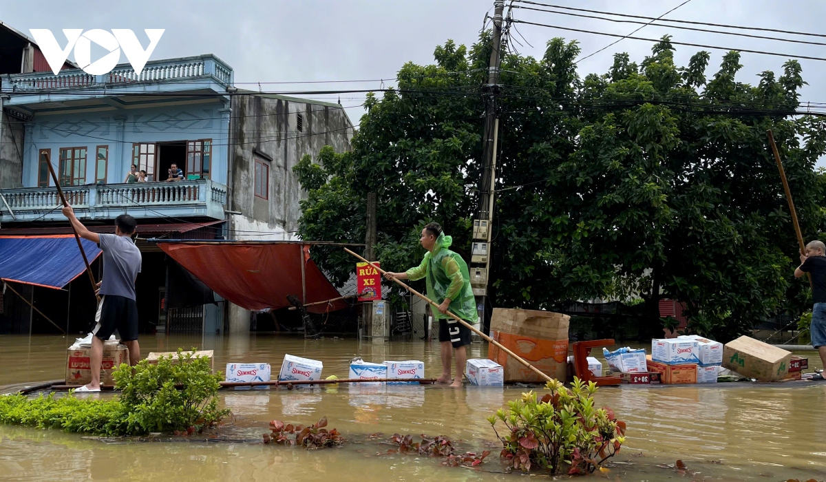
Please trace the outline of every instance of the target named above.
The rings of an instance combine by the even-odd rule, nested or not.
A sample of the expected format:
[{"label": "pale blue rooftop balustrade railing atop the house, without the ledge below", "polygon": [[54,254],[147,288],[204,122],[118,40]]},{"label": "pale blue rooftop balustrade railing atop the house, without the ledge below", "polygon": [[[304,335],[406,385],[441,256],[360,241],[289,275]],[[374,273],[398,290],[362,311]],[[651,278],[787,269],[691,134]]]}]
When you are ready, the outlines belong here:
[{"label": "pale blue rooftop balustrade railing atop the house, without the ledge below", "polygon": [[64,69],[57,75],[51,72],[12,74],[2,79],[2,88],[36,92],[45,89],[109,88],[189,79],[214,79],[219,84],[229,86],[232,82],[232,68],[215,55],[199,55],[152,60],[145,64],[140,74],[135,73],[131,64],[118,64],[112,72],[103,75],[90,75],[81,69]]}]

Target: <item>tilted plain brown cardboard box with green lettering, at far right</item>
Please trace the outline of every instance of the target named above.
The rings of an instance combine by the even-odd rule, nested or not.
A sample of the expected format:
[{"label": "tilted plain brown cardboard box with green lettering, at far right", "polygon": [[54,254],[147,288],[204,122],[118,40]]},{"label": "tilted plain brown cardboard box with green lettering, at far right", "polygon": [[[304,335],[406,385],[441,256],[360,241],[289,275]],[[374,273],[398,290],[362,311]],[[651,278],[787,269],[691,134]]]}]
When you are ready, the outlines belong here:
[{"label": "tilted plain brown cardboard box with green lettering, at far right", "polygon": [[729,341],[723,348],[723,366],[748,378],[762,382],[774,382],[789,373],[791,352],[740,336]]}]

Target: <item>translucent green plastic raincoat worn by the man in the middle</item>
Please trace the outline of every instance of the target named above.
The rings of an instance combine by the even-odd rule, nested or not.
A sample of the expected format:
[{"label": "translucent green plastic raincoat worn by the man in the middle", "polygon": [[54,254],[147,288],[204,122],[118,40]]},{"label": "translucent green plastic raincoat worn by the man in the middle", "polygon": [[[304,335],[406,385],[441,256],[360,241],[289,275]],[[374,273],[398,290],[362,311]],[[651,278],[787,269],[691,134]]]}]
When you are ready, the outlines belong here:
[{"label": "translucent green plastic raincoat worn by the man in the middle", "polygon": [[[451,236],[444,236],[444,232],[436,238],[433,252],[425,253],[425,259],[415,268],[407,270],[407,277],[413,281],[427,278],[427,297],[441,304],[444,298],[450,298],[449,310],[456,316],[470,323],[477,323],[476,298],[470,287],[468,264],[462,256],[450,251],[453,244]],[[439,310],[430,307],[433,317],[451,319],[448,315],[439,313]]]}]

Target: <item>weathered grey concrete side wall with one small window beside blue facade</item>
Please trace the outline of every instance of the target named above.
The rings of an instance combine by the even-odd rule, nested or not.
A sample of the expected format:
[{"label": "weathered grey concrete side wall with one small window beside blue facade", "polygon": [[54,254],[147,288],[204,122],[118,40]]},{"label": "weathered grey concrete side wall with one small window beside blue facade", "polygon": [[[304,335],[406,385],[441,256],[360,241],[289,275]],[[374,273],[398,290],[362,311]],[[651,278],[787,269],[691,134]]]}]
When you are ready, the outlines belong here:
[{"label": "weathered grey concrete side wall with one small window beside blue facade", "polygon": [[[297,115],[303,117],[297,130]],[[340,106],[272,95],[235,96],[232,101],[230,211],[241,212],[230,226],[236,239],[284,239],[298,228],[299,200],[306,198],[292,167],[324,146],[350,149],[353,125]],[[255,157],[269,164],[268,199],[254,195]],[[241,220],[240,217],[246,218]],[[237,226],[237,227],[236,227]],[[252,227],[254,230],[242,229]],[[262,231],[262,232],[241,232]],[[268,234],[272,236],[267,236]],[[263,235],[263,236],[262,236]]]}]

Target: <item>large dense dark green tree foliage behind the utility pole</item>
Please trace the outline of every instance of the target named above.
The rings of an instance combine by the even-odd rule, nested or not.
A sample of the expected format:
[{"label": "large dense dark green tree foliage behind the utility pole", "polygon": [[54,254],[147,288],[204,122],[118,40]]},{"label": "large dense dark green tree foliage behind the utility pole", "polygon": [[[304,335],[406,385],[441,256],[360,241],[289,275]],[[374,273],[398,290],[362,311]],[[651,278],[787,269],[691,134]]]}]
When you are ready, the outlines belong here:
[{"label": "large dense dark green tree foliage behind the utility pole", "polygon": [[[686,303],[690,329],[720,339],[783,309],[800,309],[797,245],[767,145],[774,131],[807,239],[824,224],[826,124],[793,117],[800,64],[738,81],[738,52],[715,74],[700,51],[674,63],[668,36],[638,64],[615,55],[581,79],[575,41],[541,59],[503,55],[489,293],[494,306],[560,308],[577,299],[642,297],[651,333],[660,298]],[[363,242],[377,193],[377,252],[388,270],[420,260],[420,227],[443,224],[469,258],[481,177],[490,36],[439,46],[405,64],[398,89],[368,97],[353,149],[306,156],[296,172],[304,239]],[[353,260],[316,260],[342,284]]]}]

